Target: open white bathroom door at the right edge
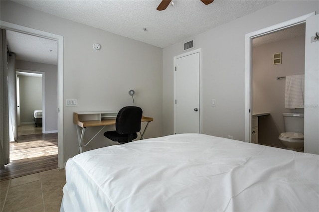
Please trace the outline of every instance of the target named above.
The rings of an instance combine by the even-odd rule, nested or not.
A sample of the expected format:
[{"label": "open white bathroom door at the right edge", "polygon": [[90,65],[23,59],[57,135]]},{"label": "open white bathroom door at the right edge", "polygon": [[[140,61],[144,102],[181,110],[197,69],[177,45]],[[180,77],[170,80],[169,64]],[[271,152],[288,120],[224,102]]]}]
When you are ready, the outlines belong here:
[{"label": "open white bathroom door at the right edge", "polygon": [[[306,19],[305,152],[319,154],[319,15]],[[317,40],[317,41],[316,41]]]}]

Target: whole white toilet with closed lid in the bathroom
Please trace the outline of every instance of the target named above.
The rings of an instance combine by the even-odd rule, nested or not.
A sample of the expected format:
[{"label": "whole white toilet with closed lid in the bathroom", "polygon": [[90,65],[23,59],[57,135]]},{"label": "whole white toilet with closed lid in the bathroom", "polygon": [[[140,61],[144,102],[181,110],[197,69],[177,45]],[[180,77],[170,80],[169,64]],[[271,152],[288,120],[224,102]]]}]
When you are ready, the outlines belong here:
[{"label": "whole white toilet with closed lid in the bathroom", "polygon": [[286,149],[303,151],[304,148],[304,113],[284,112],[285,131],[279,135],[279,140]]}]

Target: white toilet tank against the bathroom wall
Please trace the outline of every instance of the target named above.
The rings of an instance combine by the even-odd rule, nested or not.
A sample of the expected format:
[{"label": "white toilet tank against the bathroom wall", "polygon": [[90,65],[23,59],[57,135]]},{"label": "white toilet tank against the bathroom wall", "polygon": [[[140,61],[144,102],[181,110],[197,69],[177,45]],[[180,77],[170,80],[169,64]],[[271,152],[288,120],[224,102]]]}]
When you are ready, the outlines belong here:
[{"label": "white toilet tank against the bathroom wall", "polygon": [[304,134],[304,113],[284,112],[286,132],[299,132]]}]

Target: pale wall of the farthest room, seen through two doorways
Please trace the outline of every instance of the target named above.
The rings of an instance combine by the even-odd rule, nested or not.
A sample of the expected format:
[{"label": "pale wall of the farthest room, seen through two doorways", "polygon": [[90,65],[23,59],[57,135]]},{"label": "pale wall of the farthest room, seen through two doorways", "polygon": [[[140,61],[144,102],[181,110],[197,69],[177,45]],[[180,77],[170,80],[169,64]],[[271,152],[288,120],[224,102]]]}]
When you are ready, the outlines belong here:
[{"label": "pale wall of the farthest room, seen through two doorways", "polygon": [[33,122],[33,111],[42,109],[42,77],[19,76],[20,123]]}]

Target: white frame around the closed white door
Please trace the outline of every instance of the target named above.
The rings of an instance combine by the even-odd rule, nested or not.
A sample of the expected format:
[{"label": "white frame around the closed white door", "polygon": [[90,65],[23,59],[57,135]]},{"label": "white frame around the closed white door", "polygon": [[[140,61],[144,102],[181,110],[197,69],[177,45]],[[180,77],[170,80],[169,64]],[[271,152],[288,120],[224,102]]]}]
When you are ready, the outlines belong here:
[{"label": "white frame around the closed white door", "polygon": [[201,62],[202,62],[202,56],[201,56],[201,48],[199,49],[195,49],[177,56],[174,56],[174,62],[173,62],[173,73],[174,73],[174,99],[173,99],[173,114],[174,114],[174,129],[173,129],[173,134],[176,133],[176,104],[175,104],[175,100],[176,100],[176,71],[175,71],[175,67],[176,67],[176,60],[178,58],[181,57],[185,57],[191,54],[195,54],[195,53],[199,53],[199,133],[202,133],[202,68],[201,68]]}]

